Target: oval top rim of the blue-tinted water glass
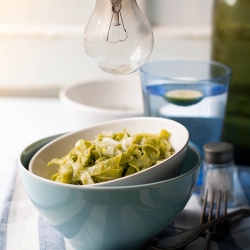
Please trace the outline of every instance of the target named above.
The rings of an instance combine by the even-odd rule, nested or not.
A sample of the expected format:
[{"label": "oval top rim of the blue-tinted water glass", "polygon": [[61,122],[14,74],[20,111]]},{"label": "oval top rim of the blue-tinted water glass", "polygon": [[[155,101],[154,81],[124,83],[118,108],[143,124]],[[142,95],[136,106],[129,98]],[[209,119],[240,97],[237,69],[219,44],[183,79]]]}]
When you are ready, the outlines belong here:
[{"label": "oval top rim of the blue-tinted water glass", "polygon": [[[144,65],[142,65],[140,67],[140,73],[143,73],[143,74],[147,74],[149,76],[152,76],[152,77],[159,77],[158,75],[156,74],[153,74],[153,73],[148,73],[144,68],[148,65],[153,65],[153,64],[156,64],[156,63],[172,63],[172,62],[184,62],[184,63],[193,63],[193,62],[198,62],[198,63],[205,63],[207,65],[214,65],[214,66],[218,66],[218,67],[221,67],[221,68],[224,68],[227,72],[225,73],[225,75],[223,76],[220,76],[220,77],[214,77],[214,78],[200,78],[200,79],[197,79],[197,81],[213,81],[213,80],[219,80],[219,79],[223,79],[223,78],[227,78],[227,77],[231,77],[232,75],[232,70],[229,66],[227,66],[226,64],[223,64],[223,63],[220,63],[220,62],[217,62],[217,61],[213,61],[213,60],[201,60],[201,59],[178,59],[178,58],[174,58],[174,59],[163,59],[163,60],[154,60],[154,61],[150,61],[150,62],[147,62],[145,63]],[[166,80],[173,80],[173,77],[164,77],[164,76],[161,76],[160,77],[161,79],[166,79]],[[176,80],[176,79],[175,79]],[[181,80],[181,79],[178,79],[179,82],[186,82],[185,80]]]}]

